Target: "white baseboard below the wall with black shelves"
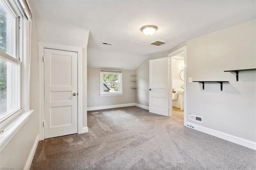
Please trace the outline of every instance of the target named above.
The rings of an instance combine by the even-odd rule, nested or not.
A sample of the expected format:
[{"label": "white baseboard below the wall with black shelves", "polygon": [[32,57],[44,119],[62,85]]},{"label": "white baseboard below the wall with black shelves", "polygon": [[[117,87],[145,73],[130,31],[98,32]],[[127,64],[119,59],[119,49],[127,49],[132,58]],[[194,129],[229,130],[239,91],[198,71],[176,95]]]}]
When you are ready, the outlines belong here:
[{"label": "white baseboard below the wall with black shelves", "polygon": [[220,132],[218,130],[213,130],[213,129],[210,129],[210,128],[202,127],[200,125],[196,125],[196,124],[193,124],[193,123],[190,123],[190,122],[186,122],[186,123],[184,123],[184,125],[186,127],[189,127],[189,128],[194,128],[195,130],[198,130],[200,132],[204,132],[204,133],[210,134],[212,136],[216,136],[218,138],[222,138],[224,140],[228,140],[230,142],[240,144],[240,145],[245,146],[247,148],[251,148],[253,150],[256,150],[256,142],[253,142],[253,141],[250,141],[250,140],[247,140],[247,139],[244,139],[244,138],[240,138],[240,137],[237,137],[237,136],[234,136],[234,135],[231,135],[231,134],[227,134],[227,133],[224,133],[224,132]]}]

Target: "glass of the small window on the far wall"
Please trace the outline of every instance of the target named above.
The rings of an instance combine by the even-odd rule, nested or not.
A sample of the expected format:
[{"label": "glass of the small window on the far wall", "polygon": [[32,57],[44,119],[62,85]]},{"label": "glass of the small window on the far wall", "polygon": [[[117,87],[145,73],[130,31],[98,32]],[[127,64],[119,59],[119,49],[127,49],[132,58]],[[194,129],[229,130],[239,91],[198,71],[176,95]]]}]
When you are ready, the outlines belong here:
[{"label": "glass of the small window on the far wall", "polygon": [[118,74],[103,74],[103,91],[118,92],[119,80]]}]

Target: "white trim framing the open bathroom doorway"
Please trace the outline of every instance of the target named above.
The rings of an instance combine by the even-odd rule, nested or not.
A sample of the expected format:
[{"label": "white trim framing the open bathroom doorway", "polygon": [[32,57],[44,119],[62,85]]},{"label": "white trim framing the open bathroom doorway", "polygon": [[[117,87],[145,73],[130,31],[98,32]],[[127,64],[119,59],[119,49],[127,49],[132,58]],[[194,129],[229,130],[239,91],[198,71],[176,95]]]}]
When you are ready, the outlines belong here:
[{"label": "white trim framing the open bathroom doorway", "polygon": [[[187,49],[187,46],[185,45],[184,47],[181,47],[175,51],[173,51],[172,53],[169,53],[168,54],[168,57],[170,58],[170,76],[169,76],[169,103],[170,103],[170,108],[169,108],[169,116],[172,116],[172,59],[171,57],[181,53],[184,51],[184,65],[186,67],[187,65],[187,61],[186,61],[186,55],[187,55],[187,52],[186,52],[186,49]],[[183,123],[184,123],[184,126],[186,126],[186,101],[187,101],[187,96],[186,96],[186,91],[187,91],[187,81],[186,81],[186,75],[187,75],[187,72],[186,72],[186,68],[184,69],[184,120],[183,120]]]}]

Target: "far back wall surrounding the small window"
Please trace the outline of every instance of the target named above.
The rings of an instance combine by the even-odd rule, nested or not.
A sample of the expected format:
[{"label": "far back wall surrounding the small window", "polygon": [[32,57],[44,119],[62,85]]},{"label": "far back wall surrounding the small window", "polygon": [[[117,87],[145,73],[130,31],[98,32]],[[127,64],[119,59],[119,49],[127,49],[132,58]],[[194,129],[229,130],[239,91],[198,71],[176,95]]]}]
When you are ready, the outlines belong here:
[{"label": "far back wall surrounding the small window", "polygon": [[[88,108],[101,107],[109,105],[121,105],[134,103],[134,87],[130,80],[134,79],[134,70],[122,70],[123,95],[122,96],[104,96],[100,97],[100,68],[87,68],[87,83],[88,83]],[[97,100],[95,103],[94,100]]]}]

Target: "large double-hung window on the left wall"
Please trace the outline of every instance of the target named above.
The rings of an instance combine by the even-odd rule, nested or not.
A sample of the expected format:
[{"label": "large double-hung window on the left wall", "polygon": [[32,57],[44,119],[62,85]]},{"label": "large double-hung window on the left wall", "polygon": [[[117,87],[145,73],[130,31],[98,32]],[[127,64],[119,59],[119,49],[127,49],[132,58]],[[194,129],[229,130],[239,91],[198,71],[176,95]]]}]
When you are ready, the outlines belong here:
[{"label": "large double-hung window on the left wall", "polygon": [[0,3],[0,122],[21,110],[19,16],[7,1]]}]

